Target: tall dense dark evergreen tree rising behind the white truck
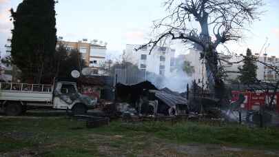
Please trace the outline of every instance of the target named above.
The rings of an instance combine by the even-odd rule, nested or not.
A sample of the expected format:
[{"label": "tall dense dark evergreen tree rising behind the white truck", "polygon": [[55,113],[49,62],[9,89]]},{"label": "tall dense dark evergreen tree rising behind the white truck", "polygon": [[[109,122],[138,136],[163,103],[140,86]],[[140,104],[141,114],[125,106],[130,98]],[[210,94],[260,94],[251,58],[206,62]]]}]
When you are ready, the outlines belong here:
[{"label": "tall dense dark evergreen tree rising behind the white truck", "polygon": [[22,72],[23,81],[41,83],[56,47],[54,0],[23,0],[17,12],[11,9],[12,61]]}]

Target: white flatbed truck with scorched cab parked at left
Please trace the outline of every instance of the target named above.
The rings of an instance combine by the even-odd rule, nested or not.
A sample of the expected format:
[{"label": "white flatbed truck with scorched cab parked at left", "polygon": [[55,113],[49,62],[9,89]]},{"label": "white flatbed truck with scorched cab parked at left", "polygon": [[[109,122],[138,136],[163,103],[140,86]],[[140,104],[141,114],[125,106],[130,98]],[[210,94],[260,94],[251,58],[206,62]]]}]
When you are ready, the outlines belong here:
[{"label": "white flatbed truck with scorched cab parked at left", "polygon": [[0,109],[8,116],[37,107],[71,109],[73,114],[85,114],[96,103],[96,98],[80,94],[73,82],[61,81],[54,85],[0,83]]}]

